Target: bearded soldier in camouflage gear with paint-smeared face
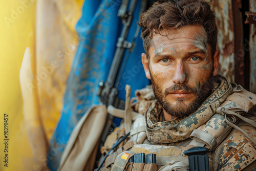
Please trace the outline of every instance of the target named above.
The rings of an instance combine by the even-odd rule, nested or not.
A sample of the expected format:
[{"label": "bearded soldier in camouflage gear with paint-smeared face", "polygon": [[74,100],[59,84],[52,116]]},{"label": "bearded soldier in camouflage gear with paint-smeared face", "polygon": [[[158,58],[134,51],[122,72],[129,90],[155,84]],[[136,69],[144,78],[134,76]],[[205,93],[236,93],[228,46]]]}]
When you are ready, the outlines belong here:
[{"label": "bearded soldier in camouflage gear with paint-smeared face", "polygon": [[[98,170],[188,170],[184,153],[195,146],[209,149],[210,170],[255,169],[256,95],[218,75],[218,29],[209,4],[158,1],[138,24],[152,88],[137,91],[131,104],[127,87],[124,112],[109,106],[124,121],[101,148]],[[157,167],[133,164],[141,153],[155,154]]]}]

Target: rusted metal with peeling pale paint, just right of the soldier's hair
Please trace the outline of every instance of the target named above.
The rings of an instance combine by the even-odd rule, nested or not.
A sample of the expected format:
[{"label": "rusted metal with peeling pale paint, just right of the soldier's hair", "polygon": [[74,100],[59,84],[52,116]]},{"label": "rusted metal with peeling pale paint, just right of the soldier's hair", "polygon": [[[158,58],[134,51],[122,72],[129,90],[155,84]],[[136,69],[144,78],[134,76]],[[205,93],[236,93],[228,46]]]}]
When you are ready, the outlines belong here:
[{"label": "rusted metal with peeling pale paint, just right of the soldier's hair", "polygon": [[234,23],[232,0],[208,0],[216,12],[216,22],[219,29],[217,49],[220,50],[219,73],[234,82]]}]

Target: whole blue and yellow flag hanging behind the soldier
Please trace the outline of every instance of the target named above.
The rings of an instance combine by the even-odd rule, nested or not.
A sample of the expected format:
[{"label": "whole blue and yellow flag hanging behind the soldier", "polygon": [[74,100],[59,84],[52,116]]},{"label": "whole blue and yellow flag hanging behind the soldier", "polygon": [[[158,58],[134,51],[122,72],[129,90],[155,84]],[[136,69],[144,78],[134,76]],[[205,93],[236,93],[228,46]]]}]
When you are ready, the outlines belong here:
[{"label": "whole blue and yellow flag hanging behind the soldier", "polygon": [[[56,170],[83,114],[99,103],[122,30],[114,0],[1,1],[0,170]],[[144,88],[138,1],[118,81]],[[116,121],[118,122],[118,121]],[[3,127],[5,126],[6,127]],[[4,132],[5,131],[5,132]],[[3,141],[3,142],[2,142]],[[5,159],[4,159],[5,157]]]}]

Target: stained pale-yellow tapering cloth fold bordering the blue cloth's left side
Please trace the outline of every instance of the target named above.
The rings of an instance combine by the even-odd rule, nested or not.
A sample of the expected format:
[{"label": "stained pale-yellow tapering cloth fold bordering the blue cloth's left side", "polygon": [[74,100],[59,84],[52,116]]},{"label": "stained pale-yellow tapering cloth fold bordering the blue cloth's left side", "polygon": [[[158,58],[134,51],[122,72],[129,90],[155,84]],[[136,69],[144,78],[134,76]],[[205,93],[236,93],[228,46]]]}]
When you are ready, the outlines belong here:
[{"label": "stained pale-yellow tapering cloth fold bordering the blue cloth's left side", "polygon": [[75,25],[81,7],[72,0],[37,0],[36,65],[39,105],[47,140],[62,110],[62,99],[78,46]]}]

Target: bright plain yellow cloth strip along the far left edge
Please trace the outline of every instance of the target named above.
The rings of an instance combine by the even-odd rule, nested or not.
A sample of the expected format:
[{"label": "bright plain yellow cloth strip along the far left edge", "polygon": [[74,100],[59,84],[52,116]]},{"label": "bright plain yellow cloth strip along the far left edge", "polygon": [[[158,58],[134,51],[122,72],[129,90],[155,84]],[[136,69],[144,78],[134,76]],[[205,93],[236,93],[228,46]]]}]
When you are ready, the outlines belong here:
[{"label": "bright plain yellow cloth strip along the far left edge", "polygon": [[[23,159],[32,156],[23,117],[23,99],[19,83],[19,70],[26,47],[31,47],[31,54],[35,53],[35,5],[23,13],[17,13],[21,7],[18,1],[0,1],[0,139],[3,135],[3,116],[8,113],[8,167],[3,161],[0,170],[23,170]],[[22,11],[20,11],[22,12]],[[3,143],[0,143],[0,153],[4,155]],[[22,156],[22,157],[20,157]],[[28,164],[33,168],[33,161]],[[20,167],[21,166],[21,167]]]}]

